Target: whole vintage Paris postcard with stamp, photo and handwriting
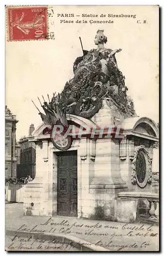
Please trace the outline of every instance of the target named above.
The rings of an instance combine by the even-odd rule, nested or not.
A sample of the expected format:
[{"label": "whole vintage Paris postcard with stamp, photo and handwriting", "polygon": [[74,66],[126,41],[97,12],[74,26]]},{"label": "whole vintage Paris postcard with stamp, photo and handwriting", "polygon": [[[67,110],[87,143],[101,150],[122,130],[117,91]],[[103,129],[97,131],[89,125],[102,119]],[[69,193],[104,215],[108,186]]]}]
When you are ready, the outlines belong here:
[{"label": "whole vintage Paris postcard with stamp, photo and handwriting", "polygon": [[159,6],[6,6],[6,251],[159,250]]}]

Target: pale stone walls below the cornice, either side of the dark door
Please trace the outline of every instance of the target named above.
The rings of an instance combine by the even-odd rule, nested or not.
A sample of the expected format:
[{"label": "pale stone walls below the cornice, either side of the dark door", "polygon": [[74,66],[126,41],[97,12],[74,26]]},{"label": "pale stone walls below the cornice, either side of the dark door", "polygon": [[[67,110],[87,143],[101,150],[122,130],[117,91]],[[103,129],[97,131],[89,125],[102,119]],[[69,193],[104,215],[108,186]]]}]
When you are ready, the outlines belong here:
[{"label": "pale stone walls below the cornice, either side of the dark door", "polygon": [[[103,113],[105,118],[106,111],[102,110]],[[101,115],[99,124],[105,120]],[[139,145],[145,145],[152,160],[151,140],[137,136],[125,135],[122,140],[87,137],[73,140],[68,151],[77,151],[78,218],[113,221],[118,193],[152,191],[152,184],[143,188],[132,184],[133,160]],[[48,136],[40,135],[39,140],[36,136],[36,176],[26,186],[26,215],[57,215],[57,152]]]}]

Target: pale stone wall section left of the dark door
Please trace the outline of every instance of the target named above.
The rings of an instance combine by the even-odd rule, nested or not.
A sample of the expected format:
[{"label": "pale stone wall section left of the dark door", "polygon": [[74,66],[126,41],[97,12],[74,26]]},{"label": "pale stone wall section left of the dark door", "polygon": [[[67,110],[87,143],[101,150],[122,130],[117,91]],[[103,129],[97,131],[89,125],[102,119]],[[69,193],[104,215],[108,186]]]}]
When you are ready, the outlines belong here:
[{"label": "pale stone wall section left of the dark door", "polygon": [[49,163],[51,158],[44,161],[44,143],[45,141],[43,143],[40,141],[36,144],[36,176],[25,188],[25,215],[52,216],[52,206],[49,203],[49,190],[50,186],[52,186],[52,181],[49,179]]}]

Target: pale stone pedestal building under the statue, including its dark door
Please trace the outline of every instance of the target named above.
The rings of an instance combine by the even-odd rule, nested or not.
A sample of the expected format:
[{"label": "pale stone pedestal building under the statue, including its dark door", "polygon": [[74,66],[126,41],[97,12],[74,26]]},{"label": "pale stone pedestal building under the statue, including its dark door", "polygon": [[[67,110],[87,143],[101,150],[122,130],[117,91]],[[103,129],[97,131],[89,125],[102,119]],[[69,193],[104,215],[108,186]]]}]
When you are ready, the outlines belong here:
[{"label": "pale stone pedestal building under the statue, including its dark door", "polygon": [[[105,112],[109,116],[104,109],[96,114],[100,127]],[[79,125],[94,125],[85,118],[66,117],[76,123],[77,129]],[[145,124],[147,130],[143,129]],[[51,134],[44,134],[49,126],[40,125],[31,137],[36,143],[36,177],[26,186],[25,193],[30,196],[24,201],[25,215],[135,221],[138,195],[154,190],[153,145],[158,141],[158,129],[146,117],[126,118],[121,126],[123,139],[92,139],[90,131],[81,139],[72,138],[71,147],[62,151],[54,146]],[[120,200],[122,193],[128,198]],[[133,199],[129,200],[131,195]]]}]

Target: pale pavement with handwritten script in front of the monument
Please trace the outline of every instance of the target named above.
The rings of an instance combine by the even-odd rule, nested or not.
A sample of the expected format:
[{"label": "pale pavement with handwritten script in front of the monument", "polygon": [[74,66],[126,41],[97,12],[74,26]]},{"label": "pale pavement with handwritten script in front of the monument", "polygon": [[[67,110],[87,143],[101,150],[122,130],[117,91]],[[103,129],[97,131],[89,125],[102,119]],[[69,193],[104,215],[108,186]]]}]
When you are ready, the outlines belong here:
[{"label": "pale pavement with handwritten script in front of the monument", "polygon": [[[94,245],[93,250],[112,251],[158,251],[159,228],[152,224],[119,223],[77,219],[74,217],[24,216],[23,204],[6,203],[7,250],[78,250],[72,243],[67,245],[53,240],[49,235],[70,238],[86,247]],[[30,232],[31,238],[22,239],[17,232]],[[12,232],[11,232],[12,231]],[[38,237],[37,237],[37,234]],[[31,235],[30,235],[31,236]],[[40,237],[39,237],[40,236]],[[50,239],[49,239],[50,237]],[[13,241],[12,241],[13,240]],[[46,241],[50,240],[50,242]],[[52,242],[53,241],[53,242]],[[65,241],[65,240],[62,240]],[[92,246],[93,247],[93,246]]]}]

